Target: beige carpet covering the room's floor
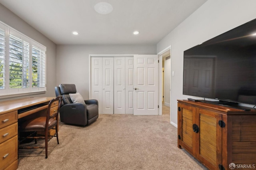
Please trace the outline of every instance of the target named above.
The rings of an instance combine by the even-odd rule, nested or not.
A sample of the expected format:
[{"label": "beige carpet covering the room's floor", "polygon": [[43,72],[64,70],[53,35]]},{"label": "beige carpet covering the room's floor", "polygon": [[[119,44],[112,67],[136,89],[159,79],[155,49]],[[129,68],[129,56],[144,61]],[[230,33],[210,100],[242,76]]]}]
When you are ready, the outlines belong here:
[{"label": "beige carpet covering the room's floor", "polygon": [[99,115],[88,127],[59,124],[59,141],[44,149],[20,149],[18,170],[204,170],[177,147],[170,108],[163,115]]}]

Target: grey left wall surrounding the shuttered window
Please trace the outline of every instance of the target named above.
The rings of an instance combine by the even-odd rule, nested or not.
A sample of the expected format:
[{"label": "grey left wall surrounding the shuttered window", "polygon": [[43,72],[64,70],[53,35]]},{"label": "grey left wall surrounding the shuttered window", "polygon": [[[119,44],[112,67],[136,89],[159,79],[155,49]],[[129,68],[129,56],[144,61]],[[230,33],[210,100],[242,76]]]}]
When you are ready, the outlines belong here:
[{"label": "grey left wall surrounding the shuttered window", "polygon": [[24,20],[16,16],[10,10],[0,4],[0,21],[18,30],[22,34],[32,38],[36,42],[41,43],[47,48],[46,58],[46,83],[47,92],[36,96],[55,96],[54,87],[56,86],[56,44],[38,32],[32,26],[28,25]]}]

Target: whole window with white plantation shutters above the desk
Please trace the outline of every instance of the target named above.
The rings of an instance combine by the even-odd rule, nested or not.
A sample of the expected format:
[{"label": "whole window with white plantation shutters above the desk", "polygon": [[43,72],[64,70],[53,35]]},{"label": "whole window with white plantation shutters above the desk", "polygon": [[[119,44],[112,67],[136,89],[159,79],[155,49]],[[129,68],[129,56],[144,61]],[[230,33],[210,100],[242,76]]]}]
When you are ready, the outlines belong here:
[{"label": "whole window with white plantation shutters above the desk", "polygon": [[46,91],[46,47],[0,22],[0,96]]}]

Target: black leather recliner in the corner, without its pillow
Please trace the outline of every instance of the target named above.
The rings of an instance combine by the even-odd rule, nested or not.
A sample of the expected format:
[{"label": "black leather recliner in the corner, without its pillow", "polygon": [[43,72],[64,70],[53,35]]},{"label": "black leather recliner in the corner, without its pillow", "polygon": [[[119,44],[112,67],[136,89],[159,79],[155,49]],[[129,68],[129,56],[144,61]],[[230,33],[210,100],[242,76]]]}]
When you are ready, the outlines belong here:
[{"label": "black leather recliner in the corner, without its pillow", "polygon": [[62,95],[60,105],[60,121],[72,125],[90,125],[98,119],[98,101],[96,99],[84,100],[83,103],[73,103],[70,93],[76,93],[76,85],[60,84],[55,87],[56,96]]}]

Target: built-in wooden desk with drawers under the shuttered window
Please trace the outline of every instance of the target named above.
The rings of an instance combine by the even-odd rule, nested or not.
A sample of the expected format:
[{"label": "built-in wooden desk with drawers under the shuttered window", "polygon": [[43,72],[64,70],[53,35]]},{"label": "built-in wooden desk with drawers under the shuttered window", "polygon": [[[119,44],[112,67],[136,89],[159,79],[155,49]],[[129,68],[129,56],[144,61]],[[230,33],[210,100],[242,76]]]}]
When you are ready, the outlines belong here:
[{"label": "built-in wooden desk with drawers under the shuttered window", "polygon": [[45,114],[53,98],[26,97],[0,101],[0,170],[18,168],[18,119],[21,121]]}]

